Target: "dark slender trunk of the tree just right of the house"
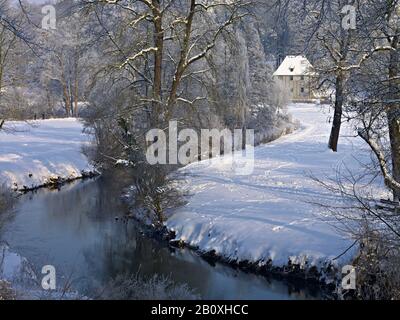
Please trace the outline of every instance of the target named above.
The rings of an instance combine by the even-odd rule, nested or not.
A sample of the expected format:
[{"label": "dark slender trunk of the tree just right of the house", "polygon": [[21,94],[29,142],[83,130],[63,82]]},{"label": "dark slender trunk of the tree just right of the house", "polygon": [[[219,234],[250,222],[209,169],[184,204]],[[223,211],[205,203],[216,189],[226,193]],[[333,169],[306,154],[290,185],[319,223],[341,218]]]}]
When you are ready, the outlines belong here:
[{"label": "dark slender trunk of the tree just right of the house", "polygon": [[332,130],[329,138],[329,148],[334,152],[338,150],[338,142],[340,135],[340,127],[342,125],[342,113],[343,113],[343,86],[344,86],[344,75],[339,73],[336,76],[336,95],[335,95],[335,114],[333,116]]}]

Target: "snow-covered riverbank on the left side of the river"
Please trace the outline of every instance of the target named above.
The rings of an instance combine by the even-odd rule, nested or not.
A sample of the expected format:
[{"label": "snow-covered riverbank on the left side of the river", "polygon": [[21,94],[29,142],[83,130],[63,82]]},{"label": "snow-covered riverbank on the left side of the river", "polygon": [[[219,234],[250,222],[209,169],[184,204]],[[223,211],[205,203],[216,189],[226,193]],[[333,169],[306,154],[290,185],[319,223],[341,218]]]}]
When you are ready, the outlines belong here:
[{"label": "snow-covered riverbank on the left side of the river", "polygon": [[79,120],[6,122],[0,132],[0,183],[13,189],[33,188],[50,179],[74,179],[92,171],[82,154],[89,136]]}]

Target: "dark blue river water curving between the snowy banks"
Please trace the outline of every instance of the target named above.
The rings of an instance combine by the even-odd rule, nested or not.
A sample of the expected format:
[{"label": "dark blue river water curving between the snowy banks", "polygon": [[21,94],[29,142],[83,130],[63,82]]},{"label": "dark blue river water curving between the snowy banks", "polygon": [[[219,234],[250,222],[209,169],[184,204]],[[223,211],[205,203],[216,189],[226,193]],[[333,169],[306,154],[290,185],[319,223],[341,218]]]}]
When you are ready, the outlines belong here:
[{"label": "dark blue river water curving between the snowy banks", "polygon": [[267,280],[226,265],[211,266],[188,249],[172,249],[145,236],[126,212],[119,189],[105,178],[61,191],[24,195],[2,239],[40,271],[54,265],[85,294],[120,274],[167,275],[207,299],[304,299],[309,289]]}]

